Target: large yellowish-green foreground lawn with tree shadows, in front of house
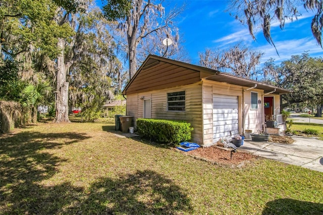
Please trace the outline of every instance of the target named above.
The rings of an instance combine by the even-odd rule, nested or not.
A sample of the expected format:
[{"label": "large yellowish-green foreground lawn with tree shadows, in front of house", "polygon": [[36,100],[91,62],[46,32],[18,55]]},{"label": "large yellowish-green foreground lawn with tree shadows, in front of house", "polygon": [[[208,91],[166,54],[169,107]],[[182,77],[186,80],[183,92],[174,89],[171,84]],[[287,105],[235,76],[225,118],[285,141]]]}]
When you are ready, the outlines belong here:
[{"label": "large yellowish-green foreground lawn with tree shadows, in front of house", "polygon": [[111,122],[1,136],[0,214],[321,214],[323,173],[258,159],[211,165]]}]

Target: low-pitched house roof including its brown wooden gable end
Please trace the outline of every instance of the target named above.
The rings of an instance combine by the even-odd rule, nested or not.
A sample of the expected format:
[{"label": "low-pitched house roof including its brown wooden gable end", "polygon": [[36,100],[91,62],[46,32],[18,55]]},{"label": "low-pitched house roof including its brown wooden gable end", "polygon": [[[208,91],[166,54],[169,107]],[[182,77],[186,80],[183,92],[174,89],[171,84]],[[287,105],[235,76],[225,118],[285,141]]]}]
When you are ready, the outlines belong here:
[{"label": "low-pitched house roof including its brown wooden gable end", "polygon": [[256,89],[264,90],[264,93],[284,94],[291,92],[281,87],[234,76],[225,72],[149,55],[129,81],[122,94],[183,86],[197,83],[201,80],[218,81],[244,87],[255,86]]}]

